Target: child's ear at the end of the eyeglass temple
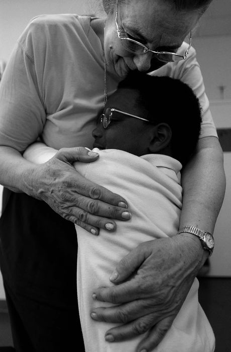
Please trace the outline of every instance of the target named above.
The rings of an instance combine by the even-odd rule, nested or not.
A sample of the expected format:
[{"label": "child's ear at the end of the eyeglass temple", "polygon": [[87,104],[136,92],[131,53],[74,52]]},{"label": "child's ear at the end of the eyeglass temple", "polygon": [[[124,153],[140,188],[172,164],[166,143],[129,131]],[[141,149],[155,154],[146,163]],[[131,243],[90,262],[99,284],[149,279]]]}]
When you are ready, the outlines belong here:
[{"label": "child's ear at the end of the eyeglass temple", "polygon": [[169,146],[172,139],[172,130],[167,123],[151,126],[150,129],[153,134],[149,143],[149,150],[151,153],[159,153]]}]

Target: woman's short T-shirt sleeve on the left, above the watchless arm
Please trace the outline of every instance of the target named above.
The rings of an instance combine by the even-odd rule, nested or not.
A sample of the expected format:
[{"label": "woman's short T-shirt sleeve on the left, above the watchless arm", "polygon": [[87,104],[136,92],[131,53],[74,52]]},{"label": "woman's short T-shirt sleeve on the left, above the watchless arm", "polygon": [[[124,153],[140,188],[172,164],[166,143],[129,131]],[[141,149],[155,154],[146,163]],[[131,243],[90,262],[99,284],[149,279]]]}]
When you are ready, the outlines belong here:
[{"label": "woman's short T-shirt sleeve on the left, above the watchless arm", "polygon": [[0,144],[19,151],[38,138],[46,121],[34,64],[33,32],[29,25],[10,57],[0,84]]}]

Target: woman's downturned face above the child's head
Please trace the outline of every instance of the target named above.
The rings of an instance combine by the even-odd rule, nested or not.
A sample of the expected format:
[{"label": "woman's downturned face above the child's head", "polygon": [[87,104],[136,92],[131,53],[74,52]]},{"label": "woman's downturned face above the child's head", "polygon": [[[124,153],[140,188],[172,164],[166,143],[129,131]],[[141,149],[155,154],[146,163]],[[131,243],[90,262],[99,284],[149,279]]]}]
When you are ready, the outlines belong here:
[{"label": "woman's downturned face above the child's head", "polygon": [[[155,54],[133,54],[124,49],[118,38],[115,24],[116,7],[108,15],[105,25],[104,50],[107,69],[111,74],[125,77],[129,70],[147,72],[165,63]],[[122,36],[145,44],[151,50],[176,52],[187,34],[196,25],[197,12],[176,12],[163,0],[118,0],[118,25]],[[152,60],[152,61],[151,61]]]}]

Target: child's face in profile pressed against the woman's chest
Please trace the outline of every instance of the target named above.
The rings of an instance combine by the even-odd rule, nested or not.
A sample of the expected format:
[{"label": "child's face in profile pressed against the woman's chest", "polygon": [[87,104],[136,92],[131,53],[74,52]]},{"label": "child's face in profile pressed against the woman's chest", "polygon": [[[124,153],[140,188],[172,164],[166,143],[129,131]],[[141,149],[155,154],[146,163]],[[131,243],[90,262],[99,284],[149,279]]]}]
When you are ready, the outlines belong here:
[{"label": "child's face in profile pressed against the woman's chest", "polygon": [[[147,119],[147,113],[135,105],[137,93],[132,89],[119,89],[107,101],[107,108],[114,108],[122,112]],[[94,148],[120,149],[140,156],[149,153],[150,123],[130,117],[118,112],[113,112],[111,122],[105,129],[98,119],[97,127],[92,134],[95,138]]]}]

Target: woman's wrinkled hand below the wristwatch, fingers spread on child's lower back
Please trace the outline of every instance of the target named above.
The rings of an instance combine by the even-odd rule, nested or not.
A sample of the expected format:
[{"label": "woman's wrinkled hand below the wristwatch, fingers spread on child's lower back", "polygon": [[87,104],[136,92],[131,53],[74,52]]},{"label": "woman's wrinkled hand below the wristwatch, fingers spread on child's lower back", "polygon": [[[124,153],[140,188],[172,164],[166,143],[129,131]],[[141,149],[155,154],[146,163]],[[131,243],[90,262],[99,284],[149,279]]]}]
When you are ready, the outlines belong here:
[{"label": "woman's wrinkled hand below the wristwatch, fingers spread on child's lower back", "polygon": [[99,301],[120,304],[92,311],[94,320],[124,324],[108,330],[105,339],[120,341],[149,330],[137,352],[156,347],[178,314],[202,257],[199,239],[188,234],[144,242],[126,255],[110,278],[117,286],[93,294]]}]

